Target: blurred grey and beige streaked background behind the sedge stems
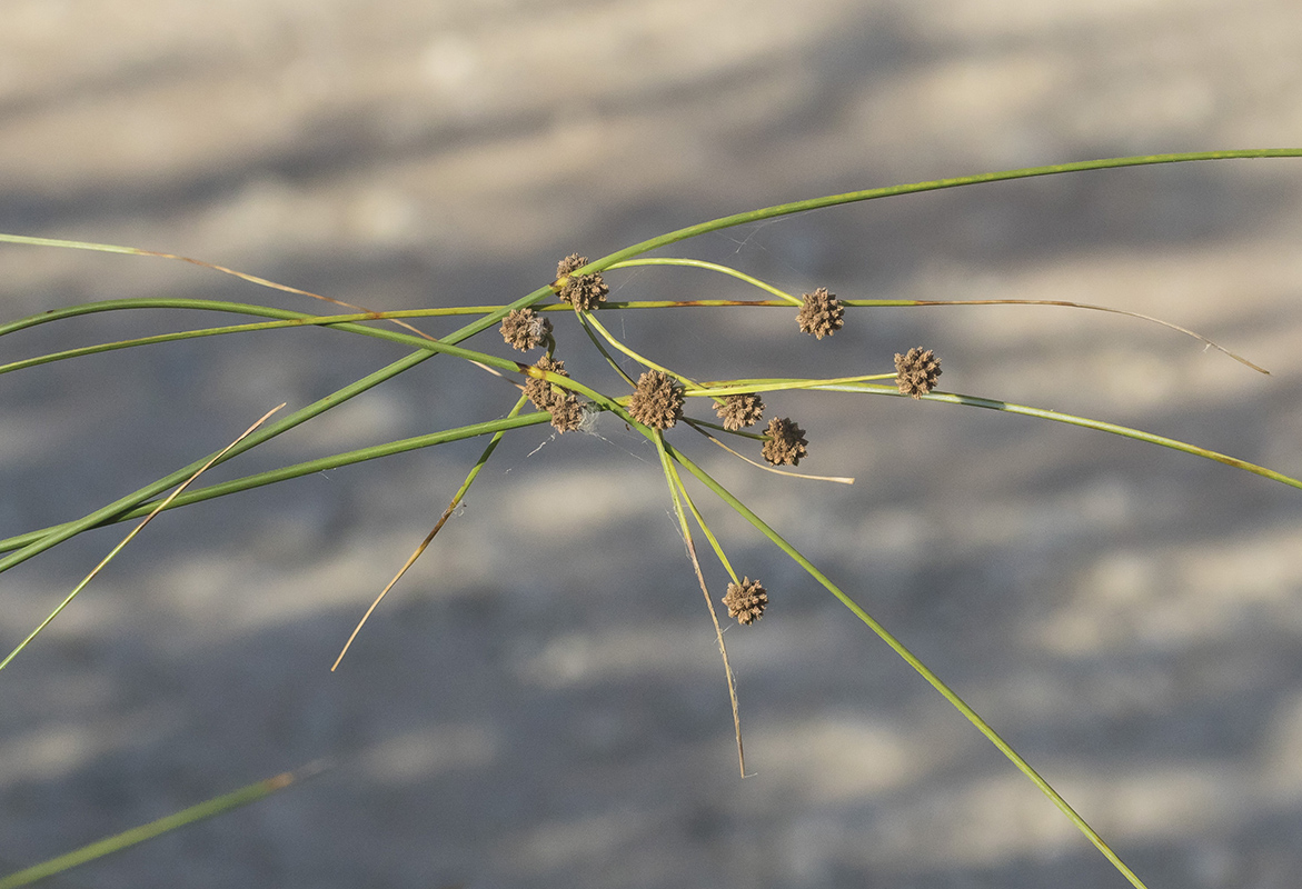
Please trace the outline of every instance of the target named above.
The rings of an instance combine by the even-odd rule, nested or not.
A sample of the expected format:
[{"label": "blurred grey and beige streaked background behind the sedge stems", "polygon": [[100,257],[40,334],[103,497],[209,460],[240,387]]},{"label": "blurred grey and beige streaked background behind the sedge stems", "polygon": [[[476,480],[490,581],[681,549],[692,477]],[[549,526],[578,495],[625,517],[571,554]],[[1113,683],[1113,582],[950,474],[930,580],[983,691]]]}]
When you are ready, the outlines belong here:
[{"label": "blurred grey and beige streaked background behind the sedge stems", "polygon": [[[375,308],[506,302],[572,251],[850,189],[1302,142],[1295,0],[10,0],[0,230],[125,243]],[[605,318],[697,379],[891,371],[1302,474],[1302,161],[898,198],[671,253],[799,293],[1056,308]],[[749,298],[681,269],[615,297]],[[0,247],[4,319],[130,295],[311,301],[133,256]],[[215,323],[98,315],[0,361]],[[618,393],[559,321],[568,364]],[[431,332],[452,325],[424,324]],[[473,345],[505,354],[496,333]],[[0,379],[0,535],[210,453],[401,350],[212,338]],[[435,359],[210,480],[505,413]],[[1025,418],[773,396],[801,469],[695,454],[1012,742],[1150,886],[1302,867],[1302,492]],[[702,495],[772,605],[728,633],[754,777],[654,453],[618,423],[499,450],[336,674],[482,443],[156,521],[0,676],[0,866],[329,758],[59,886],[1120,886],[1049,803],[822,588]],[[116,543],[0,578],[8,650]],[[707,561],[716,595],[725,575]]]}]

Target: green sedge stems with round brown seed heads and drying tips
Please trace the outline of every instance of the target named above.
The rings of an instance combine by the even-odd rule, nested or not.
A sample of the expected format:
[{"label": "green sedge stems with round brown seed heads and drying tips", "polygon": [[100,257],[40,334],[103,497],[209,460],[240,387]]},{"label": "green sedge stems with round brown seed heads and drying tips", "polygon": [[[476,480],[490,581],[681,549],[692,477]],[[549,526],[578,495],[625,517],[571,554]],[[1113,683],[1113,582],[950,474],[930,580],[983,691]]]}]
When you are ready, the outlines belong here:
[{"label": "green sedge stems with round brown seed heads and drying tips", "polygon": [[[893,357],[880,355],[871,367],[846,368],[846,374],[836,377],[784,377],[784,379],[724,379],[724,380],[698,380],[691,376],[690,368],[674,368],[661,364],[654,355],[644,355],[631,349],[622,336],[612,332],[612,327],[605,323],[611,315],[633,312],[648,308],[681,308],[694,310],[700,307],[727,307],[732,310],[763,310],[777,308],[793,312],[792,336],[812,336],[823,340],[829,336],[853,336],[854,315],[863,310],[883,306],[940,306],[940,305],[974,305],[974,301],[915,301],[915,299],[865,299],[841,298],[829,293],[827,288],[811,282],[809,292],[802,294],[786,293],[769,282],[758,280],[742,271],[707,263],[695,259],[681,259],[665,255],[648,255],[652,251],[663,250],[669,245],[687,238],[720,232],[732,226],[756,223],[760,220],[777,219],[793,213],[801,213],[823,207],[835,207],[863,200],[872,200],[887,197],[897,197],[931,191],[937,189],[950,189],[970,186],[984,182],[997,182],[1038,176],[1068,174],[1083,171],[1099,171],[1108,168],[1139,167],[1148,164],[1193,163],[1230,159],[1263,159],[1263,157],[1302,157],[1302,148],[1279,150],[1243,150],[1243,151],[1216,151],[1191,152],[1173,155],[1150,155],[1138,157],[1113,157],[1073,164],[1059,164],[1049,167],[1036,167],[1029,169],[1016,169],[978,176],[965,176],[930,182],[917,182],[889,187],[875,187],[862,191],[829,195],[810,200],[799,200],[750,212],[737,213],[723,219],[716,219],[698,225],[669,232],[641,243],[635,243],[621,250],[616,250],[598,259],[589,260],[585,256],[573,254],[561,259],[555,275],[548,275],[539,286],[530,293],[521,295],[514,302],[503,305],[473,305],[450,306],[436,308],[422,308],[409,311],[375,311],[367,307],[353,306],[336,297],[309,293],[293,286],[277,284],[259,279],[243,272],[225,267],[204,263],[201,260],[159,254],[135,247],[121,247],[103,243],[87,243],[77,241],[59,241],[49,238],[25,237],[20,234],[0,234],[0,241],[10,245],[23,245],[26,247],[56,247],[74,250],[92,250],[104,253],[117,253],[128,255],[161,256],[178,259],[198,266],[204,266],[219,272],[236,275],[251,284],[275,288],[294,294],[312,297],[326,301],[342,311],[332,312],[301,312],[256,303],[237,303],[211,299],[186,298],[139,298],[139,299],[112,299],[69,306],[46,311],[39,315],[21,318],[8,323],[0,323],[0,336],[20,333],[27,328],[42,324],[59,323],[69,318],[90,315],[95,312],[116,312],[128,310],[168,310],[178,319],[189,311],[225,312],[241,318],[240,323],[207,327],[199,329],[180,329],[173,333],[163,333],[148,337],[138,337],[116,342],[104,342],[91,346],[69,348],[66,350],[36,355],[22,361],[12,361],[0,364],[0,375],[29,370],[40,364],[70,361],[82,355],[105,353],[118,349],[147,346],[151,344],[169,342],[176,340],[228,336],[236,333],[254,333],[292,327],[324,327],[339,333],[348,333],[365,337],[375,337],[389,341],[393,348],[401,351],[387,367],[363,376],[349,385],[320,398],[312,403],[299,406],[288,414],[266,417],[259,424],[250,428],[245,435],[236,439],[229,446],[215,454],[197,456],[195,461],[187,466],[159,478],[138,491],[128,493],[113,502],[94,509],[81,518],[76,518],[51,527],[36,528],[23,534],[0,540],[0,571],[18,565],[34,556],[38,556],[57,544],[81,534],[82,531],[126,522],[135,518],[148,521],[156,514],[187,506],[191,504],[234,495],[260,486],[275,484],[286,479],[319,472],[323,470],[346,466],[362,461],[378,459],[401,452],[419,448],[431,448],[440,444],[469,439],[486,439],[479,458],[473,463],[460,488],[449,499],[437,523],[424,535],[424,539],[414,548],[406,564],[397,568],[393,579],[381,590],[361,616],[352,635],[341,644],[339,659],[333,665],[323,665],[323,669],[336,669],[344,660],[349,644],[358,633],[365,631],[366,618],[380,607],[384,596],[398,584],[404,573],[430,547],[444,526],[448,517],[453,514],[458,504],[465,497],[467,489],[474,484],[480,470],[492,458],[493,450],[506,435],[531,435],[527,427],[551,424],[561,435],[585,428],[596,414],[611,414],[638,435],[644,436],[654,448],[660,471],[663,472],[668,502],[676,517],[678,531],[686,548],[686,554],[706,600],[708,620],[712,622],[723,661],[723,679],[728,685],[732,702],[732,718],[736,733],[737,761],[741,774],[745,777],[746,760],[743,751],[743,730],[741,718],[741,704],[736,694],[733,672],[728,661],[728,651],[724,644],[724,622],[734,621],[741,626],[747,626],[762,620],[769,605],[771,595],[780,600],[780,591],[772,591],[763,584],[758,577],[751,577],[743,565],[733,565],[727,554],[727,541],[713,531],[710,518],[712,509],[728,509],[737,513],[749,522],[755,531],[789,557],[796,565],[822,584],[827,592],[835,596],[845,608],[861,621],[881,642],[889,646],[901,659],[904,659],[918,674],[922,676],[940,695],[945,698],[958,712],[961,712],[975,729],[984,735],[1022,774],[1026,776],[1047,798],[1056,806],[1062,816],[1069,819],[1079,832],[1112,863],[1117,872],[1131,885],[1143,888],[1144,884],[1121,858],[1108,846],[1101,836],[1095,832],[1072,806],[1053,790],[1049,784],[1027,763],[999,732],[986,722],[978,712],[948,686],[941,677],[934,673],[909,648],[906,648],[891,631],[875,620],[852,595],[833,578],[824,574],[797,548],[797,543],[789,541],[779,534],[756,512],[750,509],[724,484],[708,474],[698,459],[693,456],[693,448],[704,439],[707,446],[717,445],[738,459],[745,461],[756,470],[799,475],[802,478],[850,482],[844,478],[825,478],[803,475],[798,467],[807,457],[811,448],[806,439],[805,430],[799,426],[798,418],[768,417],[764,405],[764,396],[772,392],[789,390],[819,390],[840,393],[841,397],[893,397],[913,398],[917,401],[930,401],[936,403],[982,407],[1010,414],[1066,423],[1085,427],[1100,432],[1125,436],[1138,441],[1161,445],[1164,448],[1181,450],[1189,454],[1221,462],[1228,466],[1245,470],[1267,479],[1302,488],[1302,482],[1281,472],[1256,466],[1232,456],[1211,452],[1195,444],[1177,441],[1173,439],[1152,435],[1142,430],[1118,426],[1098,419],[1074,417],[1044,410],[1032,406],[1014,405],[973,394],[960,394],[952,390],[941,390],[940,376],[943,374],[941,361],[932,350],[921,344],[901,344],[900,351]],[[664,266],[689,267],[702,275],[727,275],[737,279],[759,292],[755,299],[716,299],[682,302],[674,299],[646,301],[646,302],[618,302],[609,299],[609,285],[607,276],[618,275],[629,268],[656,268]],[[1061,301],[1012,301],[1012,299],[984,299],[975,301],[975,305],[996,303],[1035,303],[1051,305],[1064,308],[1108,311],[1129,315],[1131,318],[1163,324],[1168,328],[1200,340],[1203,344],[1225,351],[1219,345],[1211,342],[1198,333],[1170,324],[1169,321],[1137,315],[1134,312],[1105,306],[1086,306],[1075,302]],[[418,327],[414,321],[422,319],[440,318],[461,319],[462,325],[449,333],[432,336]],[[254,320],[250,320],[254,319]],[[608,379],[578,379],[572,376],[565,367],[566,355],[557,349],[556,328],[561,324],[573,325],[582,332],[582,337],[591,344],[609,368]],[[841,333],[845,329],[846,333]],[[469,345],[474,342],[474,348]],[[574,342],[574,338],[568,340]],[[582,340],[579,340],[582,341]],[[1246,358],[1226,353],[1234,361],[1247,367],[1266,372],[1253,364]],[[618,355],[618,357],[617,357]],[[385,380],[426,362],[441,357],[443,361],[465,361],[482,368],[487,374],[505,380],[514,388],[508,389],[500,380],[492,381],[492,392],[513,392],[509,400],[504,400],[499,419],[470,423],[439,432],[422,435],[410,439],[384,443],[329,457],[310,459],[280,469],[255,472],[229,482],[215,484],[202,484],[199,475],[210,466],[236,459],[240,454],[256,448],[275,436],[294,428],[302,423],[311,422],[324,413],[342,405],[350,398],[376,387]],[[624,368],[637,366],[637,379]],[[948,380],[947,380],[948,381]],[[533,432],[536,435],[536,431]],[[812,445],[812,446],[816,446]],[[143,525],[138,526],[143,527]],[[134,534],[134,532],[133,532]],[[124,541],[125,543],[125,541]],[[0,652],[0,670],[8,666],[16,657],[21,656],[29,644],[39,642],[40,630],[44,629],[57,614],[69,607],[76,607],[74,599],[91,581],[120,547],[109,553],[109,557],[78,584],[62,601],[52,605],[49,616],[25,634],[22,639],[7,640],[7,653]],[[667,553],[672,557],[672,553]],[[703,561],[716,560],[728,577],[724,591],[713,588],[707,581],[707,569]],[[741,569],[741,570],[738,570]],[[781,620],[769,618],[769,620]],[[0,677],[4,681],[4,677]],[[264,782],[266,784],[266,782]],[[253,794],[238,797],[238,803],[259,798],[289,781],[273,780],[267,786],[258,785],[259,790]],[[242,793],[242,791],[237,791]],[[220,806],[203,808],[202,816],[215,811],[224,811],[236,795],[216,798]],[[108,846],[94,843],[86,850],[94,850],[94,855],[85,854],[86,850],[72,853],[53,862],[49,866],[34,866],[21,873],[12,875],[8,880],[0,881],[5,886],[26,885],[33,879],[40,879],[65,867],[89,860],[90,858],[125,847],[133,842],[139,842],[161,830],[174,829],[181,824],[194,820],[193,812],[186,810],[186,817],[174,817],[159,823],[159,829],[141,829],[120,834]],[[195,816],[198,817],[198,815]],[[104,841],[109,842],[109,841]]]}]

